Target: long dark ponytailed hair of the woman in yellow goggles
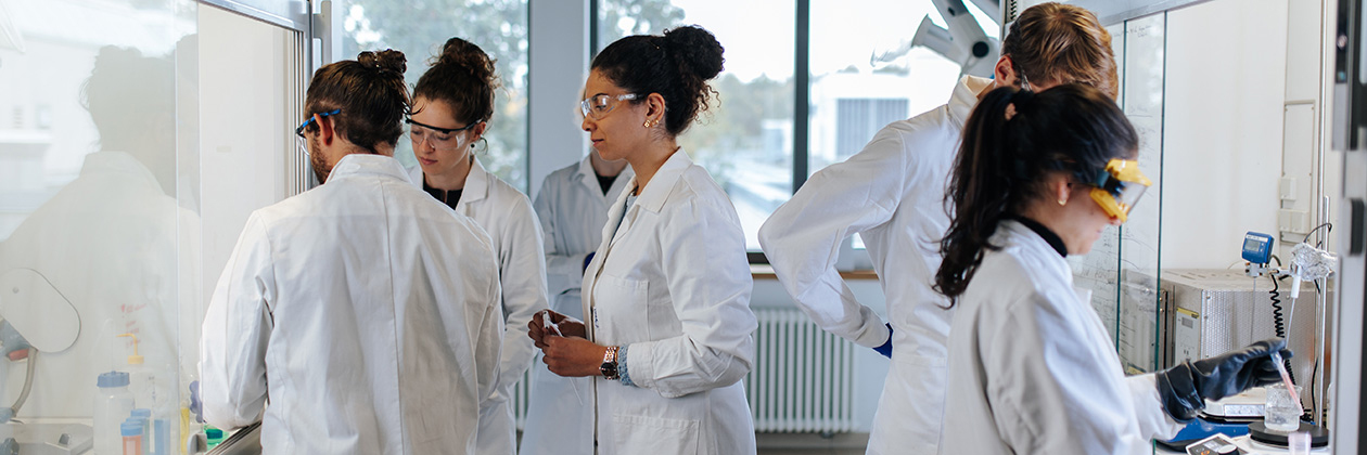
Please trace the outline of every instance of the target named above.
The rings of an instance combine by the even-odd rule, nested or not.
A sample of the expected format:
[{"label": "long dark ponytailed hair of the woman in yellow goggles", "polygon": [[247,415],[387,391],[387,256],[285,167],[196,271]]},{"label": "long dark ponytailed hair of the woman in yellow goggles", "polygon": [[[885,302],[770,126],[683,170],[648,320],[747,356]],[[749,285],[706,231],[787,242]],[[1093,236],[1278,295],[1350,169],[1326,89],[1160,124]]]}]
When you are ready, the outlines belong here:
[{"label": "long dark ponytailed hair of the woman in yellow goggles", "polygon": [[1048,174],[1095,175],[1111,158],[1132,158],[1137,148],[1139,134],[1125,113],[1089,85],[1068,83],[1039,94],[1013,87],[988,93],[964,126],[945,197],[954,219],[940,240],[945,258],[935,291],[950,298],[964,294],[983,254],[998,249],[988,242],[997,224],[1039,198]]}]

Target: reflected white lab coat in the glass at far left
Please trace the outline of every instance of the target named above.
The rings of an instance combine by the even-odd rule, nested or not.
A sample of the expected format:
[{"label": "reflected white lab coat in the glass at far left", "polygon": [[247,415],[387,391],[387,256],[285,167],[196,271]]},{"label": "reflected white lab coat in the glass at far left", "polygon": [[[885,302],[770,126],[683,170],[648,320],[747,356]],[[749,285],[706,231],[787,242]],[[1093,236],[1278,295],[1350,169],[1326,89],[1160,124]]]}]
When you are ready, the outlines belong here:
[{"label": "reflected white lab coat in the glass at far left", "polygon": [[[144,160],[157,158],[146,153],[142,156]],[[53,325],[71,322],[75,327],[60,329],[79,328],[79,336],[66,350],[40,354],[31,392],[19,410],[21,418],[89,418],[97,391],[96,377],[112,369],[130,370],[126,355],[133,354],[133,343],[127,337],[115,337],[124,332],[138,336],[145,366],[157,377],[157,395],[175,392],[172,378],[179,373],[175,368],[179,365],[176,307],[183,305],[180,312],[189,312],[186,306],[201,299],[198,232],[198,216],[179,208],[139,158],[124,152],[96,152],[85,157],[75,180],[0,243],[0,276],[22,269],[40,273],[70,302],[62,310],[74,310],[79,318],[41,320]],[[37,290],[26,291],[38,294]],[[4,298],[0,295],[0,302]],[[36,303],[11,301],[8,305]],[[53,302],[44,301],[44,305]],[[53,310],[42,309],[42,313]],[[27,337],[42,336],[42,329],[57,329],[15,328]],[[14,403],[19,396],[26,363],[0,363],[8,369],[0,377],[5,389],[4,403]],[[130,384],[134,389],[142,385]],[[139,403],[138,407],[156,407],[160,418],[170,417],[164,414],[175,406],[165,404]]]}]

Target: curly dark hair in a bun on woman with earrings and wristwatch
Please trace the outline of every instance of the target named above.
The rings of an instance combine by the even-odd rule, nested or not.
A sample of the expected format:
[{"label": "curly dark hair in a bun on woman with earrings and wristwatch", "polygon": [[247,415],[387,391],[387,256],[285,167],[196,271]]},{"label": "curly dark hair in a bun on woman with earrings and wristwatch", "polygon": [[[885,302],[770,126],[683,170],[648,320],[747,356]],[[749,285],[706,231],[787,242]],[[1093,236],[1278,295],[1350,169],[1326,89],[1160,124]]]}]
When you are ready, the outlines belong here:
[{"label": "curly dark hair in a bun on woman with earrings and wristwatch", "polygon": [[664,30],[664,36],[638,34],[617,40],[597,57],[593,70],[627,93],[664,97],[664,130],[679,135],[699,112],[707,111],[716,90],[707,81],[722,72],[722,44],[700,26]]}]

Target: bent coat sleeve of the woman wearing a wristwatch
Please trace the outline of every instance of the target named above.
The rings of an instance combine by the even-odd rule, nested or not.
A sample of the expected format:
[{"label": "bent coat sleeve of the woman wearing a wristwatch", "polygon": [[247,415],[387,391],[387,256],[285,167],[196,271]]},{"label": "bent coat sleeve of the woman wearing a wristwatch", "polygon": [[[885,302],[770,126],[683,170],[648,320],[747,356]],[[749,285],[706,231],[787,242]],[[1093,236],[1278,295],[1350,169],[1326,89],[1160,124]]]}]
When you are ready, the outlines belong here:
[{"label": "bent coat sleeve of the woman wearing a wristwatch", "polygon": [[682,335],[633,343],[626,361],[637,387],[677,398],[735,384],[749,373],[756,320],[745,238],[734,213],[726,212],[731,206],[690,201],[666,210],[675,212],[660,227],[660,268]]}]

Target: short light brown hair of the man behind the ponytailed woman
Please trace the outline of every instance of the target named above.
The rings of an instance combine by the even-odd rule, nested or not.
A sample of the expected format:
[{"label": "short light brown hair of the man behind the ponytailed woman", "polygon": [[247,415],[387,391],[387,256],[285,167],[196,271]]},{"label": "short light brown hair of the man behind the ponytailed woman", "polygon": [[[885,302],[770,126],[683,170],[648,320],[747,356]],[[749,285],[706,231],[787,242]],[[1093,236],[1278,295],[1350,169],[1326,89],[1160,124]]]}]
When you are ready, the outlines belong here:
[{"label": "short light brown hair of the man behind the ponytailed woman", "polygon": [[1016,74],[1035,83],[1085,83],[1120,94],[1110,33],[1085,8],[1043,3],[1027,8],[1002,40]]}]

